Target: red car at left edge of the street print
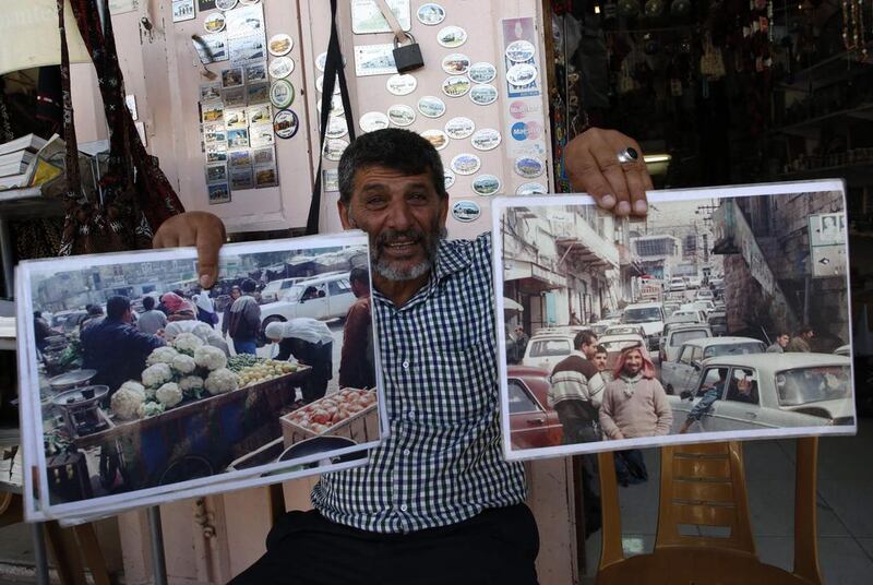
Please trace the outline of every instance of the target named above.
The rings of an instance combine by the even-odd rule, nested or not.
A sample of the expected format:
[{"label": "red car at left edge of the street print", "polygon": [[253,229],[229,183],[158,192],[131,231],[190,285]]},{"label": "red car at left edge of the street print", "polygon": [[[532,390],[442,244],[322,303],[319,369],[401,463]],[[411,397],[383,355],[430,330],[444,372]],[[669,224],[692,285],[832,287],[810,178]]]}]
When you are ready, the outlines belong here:
[{"label": "red car at left edge of the street print", "polygon": [[548,406],[549,385],[546,370],[509,367],[510,437],[514,449],[561,444],[564,431],[558,413]]}]

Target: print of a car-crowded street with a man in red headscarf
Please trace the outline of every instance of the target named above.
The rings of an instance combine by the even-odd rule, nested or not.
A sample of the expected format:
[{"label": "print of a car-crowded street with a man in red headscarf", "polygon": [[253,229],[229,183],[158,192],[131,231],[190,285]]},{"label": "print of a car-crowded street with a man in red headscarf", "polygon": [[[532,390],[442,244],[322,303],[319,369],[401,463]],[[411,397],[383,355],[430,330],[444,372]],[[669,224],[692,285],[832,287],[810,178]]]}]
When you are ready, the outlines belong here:
[{"label": "print of a car-crowded street with a man in red headscarf", "polygon": [[494,214],[509,457],[856,431],[840,182],[590,201]]}]

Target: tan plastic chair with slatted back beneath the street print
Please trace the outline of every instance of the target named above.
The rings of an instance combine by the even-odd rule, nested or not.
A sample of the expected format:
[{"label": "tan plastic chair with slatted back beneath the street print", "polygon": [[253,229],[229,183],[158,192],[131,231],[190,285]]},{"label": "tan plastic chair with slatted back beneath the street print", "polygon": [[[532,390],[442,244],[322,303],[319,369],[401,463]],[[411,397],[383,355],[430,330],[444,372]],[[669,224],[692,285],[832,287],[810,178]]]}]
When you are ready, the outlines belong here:
[{"label": "tan plastic chair with slatted back beneath the street print", "polygon": [[794,566],[790,573],[762,563],[755,552],[741,443],[661,450],[655,549],[626,559],[612,453],[598,454],[603,548],[596,583],[822,585],[815,513],[817,453],[817,438],[798,439]]}]

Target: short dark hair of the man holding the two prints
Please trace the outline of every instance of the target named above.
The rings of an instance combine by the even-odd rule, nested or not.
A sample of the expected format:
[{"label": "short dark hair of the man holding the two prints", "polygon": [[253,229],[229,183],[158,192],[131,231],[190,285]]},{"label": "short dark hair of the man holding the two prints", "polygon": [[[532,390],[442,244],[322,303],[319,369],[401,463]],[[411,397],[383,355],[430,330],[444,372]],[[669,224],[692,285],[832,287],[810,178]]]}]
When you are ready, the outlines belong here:
[{"label": "short dark hair of the man holding the two prints", "polygon": [[355,188],[355,171],[380,166],[405,175],[430,172],[436,193],[445,199],[445,178],[440,153],[427,139],[402,128],[384,128],[359,135],[339,158],[339,199],[348,205]]}]

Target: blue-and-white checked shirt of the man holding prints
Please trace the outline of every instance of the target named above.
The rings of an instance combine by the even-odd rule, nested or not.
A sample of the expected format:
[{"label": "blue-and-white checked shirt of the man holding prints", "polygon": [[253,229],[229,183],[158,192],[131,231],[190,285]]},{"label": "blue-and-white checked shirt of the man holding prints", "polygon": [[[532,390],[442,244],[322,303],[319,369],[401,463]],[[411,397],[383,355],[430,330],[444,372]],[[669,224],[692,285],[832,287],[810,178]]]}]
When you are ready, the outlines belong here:
[{"label": "blue-and-white checked shirt of the man holding prints", "polygon": [[428,284],[396,307],[373,291],[391,434],[370,464],[325,474],[328,520],[408,533],[524,501],[501,449],[491,237],[441,241]]}]

